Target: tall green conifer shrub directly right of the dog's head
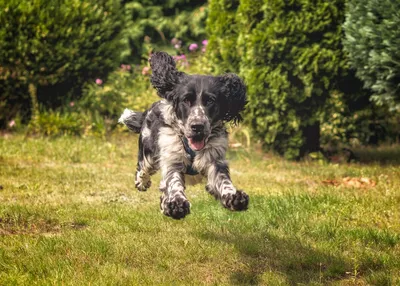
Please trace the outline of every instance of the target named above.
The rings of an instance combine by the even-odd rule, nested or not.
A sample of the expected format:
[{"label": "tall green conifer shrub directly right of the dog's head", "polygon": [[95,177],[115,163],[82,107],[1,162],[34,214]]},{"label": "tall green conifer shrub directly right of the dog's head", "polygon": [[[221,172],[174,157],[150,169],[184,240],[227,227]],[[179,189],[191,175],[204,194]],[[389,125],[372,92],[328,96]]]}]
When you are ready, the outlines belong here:
[{"label": "tall green conifer shrub directly right of the dog's head", "polygon": [[208,28],[211,60],[232,58],[228,69],[244,77],[247,122],[264,146],[291,159],[318,151],[326,101],[350,76],[341,46],[344,1],[246,0],[233,16],[237,2],[210,2],[216,19],[208,23],[221,25]]}]

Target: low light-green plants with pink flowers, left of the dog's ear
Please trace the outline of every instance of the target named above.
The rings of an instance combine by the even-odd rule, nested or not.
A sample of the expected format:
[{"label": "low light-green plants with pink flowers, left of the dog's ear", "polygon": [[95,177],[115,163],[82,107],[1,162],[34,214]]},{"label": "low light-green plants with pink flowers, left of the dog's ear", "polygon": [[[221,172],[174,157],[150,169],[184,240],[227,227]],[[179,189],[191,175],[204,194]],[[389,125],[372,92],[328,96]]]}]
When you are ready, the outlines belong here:
[{"label": "low light-green plants with pink flowers, left of the dog's ear", "polygon": [[104,137],[114,130],[124,108],[144,111],[158,100],[148,74],[140,66],[131,70],[122,65],[103,82],[97,79],[86,84],[82,98],[55,111],[41,108],[31,120],[28,132],[46,136],[94,135]]}]

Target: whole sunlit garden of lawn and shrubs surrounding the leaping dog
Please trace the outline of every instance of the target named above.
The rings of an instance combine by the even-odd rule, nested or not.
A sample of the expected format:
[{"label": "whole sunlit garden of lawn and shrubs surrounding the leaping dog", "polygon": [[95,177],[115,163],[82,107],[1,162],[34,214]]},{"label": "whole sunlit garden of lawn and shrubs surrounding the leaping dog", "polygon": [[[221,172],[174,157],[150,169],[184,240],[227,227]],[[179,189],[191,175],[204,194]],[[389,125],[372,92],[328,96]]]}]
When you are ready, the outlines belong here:
[{"label": "whole sunlit garden of lawn and shrubs surrounding the leaping dog", "polygon": [[[400,3],[0,0],[0,284],[400,283]],[[239,74],[250,209],[133,190],[148,58]],[[156,177],[156,181],[159,178]]]}]

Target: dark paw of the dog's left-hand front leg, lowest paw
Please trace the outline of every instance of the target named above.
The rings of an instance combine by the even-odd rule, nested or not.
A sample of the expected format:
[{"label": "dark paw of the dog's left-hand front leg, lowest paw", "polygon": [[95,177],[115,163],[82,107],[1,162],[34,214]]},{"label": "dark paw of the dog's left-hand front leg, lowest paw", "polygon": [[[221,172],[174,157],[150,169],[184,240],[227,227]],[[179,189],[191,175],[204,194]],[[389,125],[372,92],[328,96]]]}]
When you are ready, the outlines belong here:
[{"label": "dark paw of the dog's left-hand front leg, lowest paw", "polygon": [[160,208],[164,215],[182,219],[190,214],[190,202],[183,196],[161,196]]}]

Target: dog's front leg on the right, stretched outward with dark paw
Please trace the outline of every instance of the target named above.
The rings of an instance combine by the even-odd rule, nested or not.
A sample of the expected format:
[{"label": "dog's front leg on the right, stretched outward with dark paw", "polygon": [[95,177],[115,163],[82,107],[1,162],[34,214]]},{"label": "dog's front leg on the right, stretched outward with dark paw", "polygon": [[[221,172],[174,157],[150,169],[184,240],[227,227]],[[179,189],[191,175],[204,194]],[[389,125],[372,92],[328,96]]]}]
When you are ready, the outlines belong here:
[{"label": "dog's front leg on the right, stretched outward with dark paw", "polygon": [[207,175],[207,191],[219,199],[224,207],[236,211],[247,209],[249,196],[233,186],[226,161],[213,163],[208,168]]}]

